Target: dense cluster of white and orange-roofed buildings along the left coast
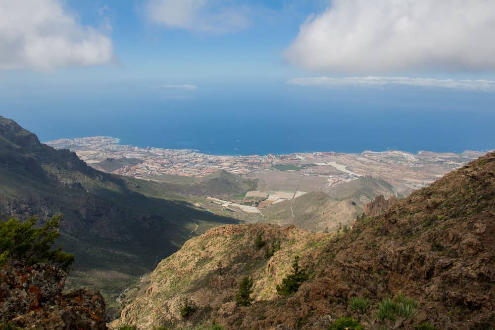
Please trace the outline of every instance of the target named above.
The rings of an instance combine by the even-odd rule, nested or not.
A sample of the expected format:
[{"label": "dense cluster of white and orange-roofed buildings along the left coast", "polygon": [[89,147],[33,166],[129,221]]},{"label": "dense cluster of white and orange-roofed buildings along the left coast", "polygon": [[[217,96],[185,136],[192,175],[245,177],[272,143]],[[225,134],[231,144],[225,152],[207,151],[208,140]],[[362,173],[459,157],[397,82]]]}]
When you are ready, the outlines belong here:
[{"label": "dense cluster of white and orange-roofed buildings along the left coast", "polygon": [[[105,162],[107,158],[122,160],[124,166],[115,170],[115,173],[141,178],[163,174],[202,177],[220,169],[235,174],[248,174],[281,162],[298,163],[303,159],[313,159],[318,154],[208,155],[193,149],[140,148],[119,144],[118,139],[110,137],[61,139],[48,144],[58,149],[71,149],[91,164]],[[126,164],[126,159],[139,159],[141,162],[130,161]]]}]

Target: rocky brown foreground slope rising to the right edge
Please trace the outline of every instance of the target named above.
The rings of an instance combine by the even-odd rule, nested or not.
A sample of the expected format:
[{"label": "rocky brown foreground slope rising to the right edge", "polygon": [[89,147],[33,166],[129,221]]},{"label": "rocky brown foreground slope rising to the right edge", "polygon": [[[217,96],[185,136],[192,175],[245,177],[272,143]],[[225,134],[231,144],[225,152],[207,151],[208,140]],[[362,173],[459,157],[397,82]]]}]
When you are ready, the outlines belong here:
[{"label": "rocky brown foreground slope rising to the right edge", "polygon": [[[269,241],[274,232],[281,248],[265,258],[254,242],[257,236]],[[213,229],[163,260],[146,294],[114,325],[180,328],[216,320],[228,329],[322,329],[313,326],[328,315],[359,317],[348,306],[354,296],[367,296],[376,307],[403,292],[419,302],[407,327],[429,322],[437,329],[491,329],[494,234],[492,152],[397,201],[384,214],[355,222],[348,233],[311,235],[269,225]],[[277,297],[274,286],[295,254],[311,278],[294,295]],[[221,273],[214,268],[218,261]],[[243,276],[255,283],[250,307],[234,302]],[[197,307],[191,319],[179,313],[187,299]],[[276,328],[279,324],[286,328]]]}]

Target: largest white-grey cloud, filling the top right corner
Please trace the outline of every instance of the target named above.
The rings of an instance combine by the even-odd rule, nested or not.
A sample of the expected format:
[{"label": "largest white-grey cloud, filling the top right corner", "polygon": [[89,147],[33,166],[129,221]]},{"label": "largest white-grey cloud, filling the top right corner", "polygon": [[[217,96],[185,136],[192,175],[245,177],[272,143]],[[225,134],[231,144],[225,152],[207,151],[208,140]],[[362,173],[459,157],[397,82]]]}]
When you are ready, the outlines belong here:
[{"label": "largest white-grey cloud, filling the top right corner", "polygon": [[494,0],[334,0],[287,49],[298,66],[370,74],[495,70]]}]

